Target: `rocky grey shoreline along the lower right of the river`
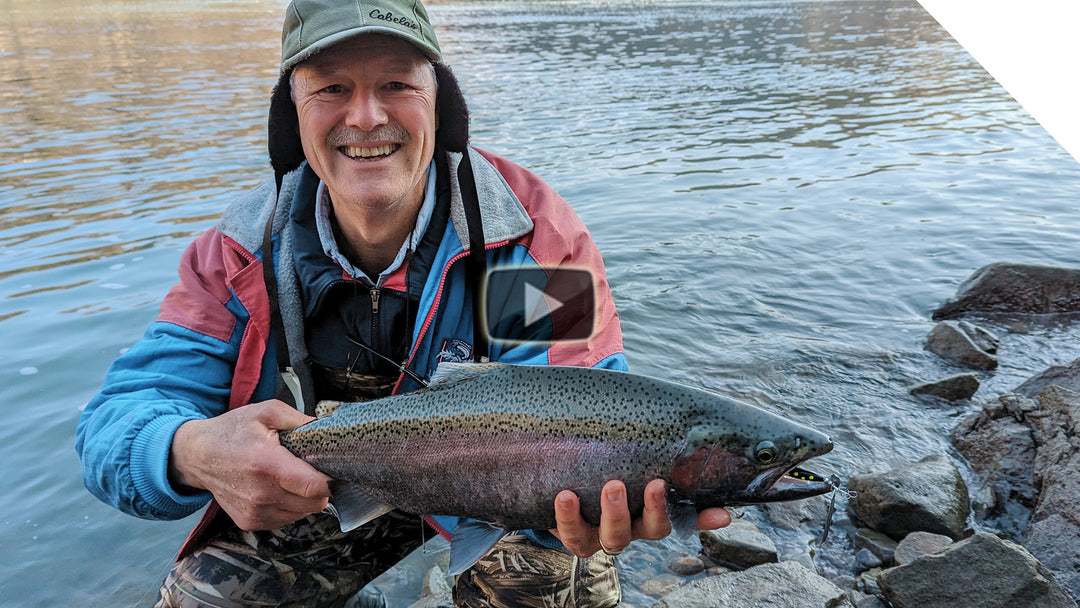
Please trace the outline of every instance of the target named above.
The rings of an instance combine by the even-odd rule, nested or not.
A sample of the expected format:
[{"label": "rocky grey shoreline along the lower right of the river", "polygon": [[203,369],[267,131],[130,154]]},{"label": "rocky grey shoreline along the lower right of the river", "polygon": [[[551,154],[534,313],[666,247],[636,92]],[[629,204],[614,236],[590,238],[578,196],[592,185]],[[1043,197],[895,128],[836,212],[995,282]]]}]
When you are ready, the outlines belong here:
[{"label": "rocky grey shoreline along the lower right of the river", "polygon": [[[912,394],[969,400],[998,363],[999,340],[982,324],[1009,332],[1048,316],[1080,319],[1080,270],[977,270],[933,313],[939,323],[927,338],[927,350],[971,371],[912,387]],[[842,525],[833,531],[850,549],[845,555],[823,551],[820,530],[834,518],[825,497],[733,509],[731,526],[689,545],[632,544],[620,557],[621,608],[1077,608],[1080,359],[983,404],[949,436],[962,459],[932,454],[849,479],[846,509],[835,515]],[[804,549],[780,560],[754,517],[791,531]],[[435,566],[410,608],[451,606]]]}]

